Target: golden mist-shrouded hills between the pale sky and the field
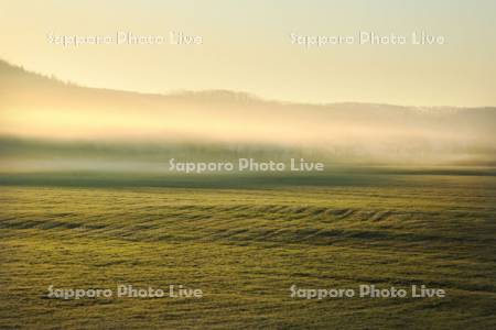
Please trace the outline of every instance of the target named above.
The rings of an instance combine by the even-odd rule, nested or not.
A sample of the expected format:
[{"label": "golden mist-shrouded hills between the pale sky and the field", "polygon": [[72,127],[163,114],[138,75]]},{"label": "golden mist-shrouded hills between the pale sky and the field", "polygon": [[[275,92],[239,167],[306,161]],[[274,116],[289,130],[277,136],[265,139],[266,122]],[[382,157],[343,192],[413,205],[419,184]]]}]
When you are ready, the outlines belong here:
[{"label": "golden mist-shrouded hills between the pale sky and the field", "polygon": [[[74,160],[80,143],[90,143],[117,145],[104,158],[116,153],[136,161],[129,146],[142,148],[138,160],[143,162],[162,162],[179,151],[200,158],[242,156],[246,151],[299,156],[304,151],[345,164],[496,163],[496,108],[283,103],[231,91],[144,95],[78,87],[0,62],[0,111],[1,135],[43,141],[14,143],[14,152],[3,148],[3,156],[17,160],[23,153],[24,158],[50,158],[54,143],[71,142],[56,153]],[[36,153],[36,145],[43,152]],[[198,147],[201,153],[188,154]],[[101,156],[85,151],[76,160],[84,164],[82,158]]]}]

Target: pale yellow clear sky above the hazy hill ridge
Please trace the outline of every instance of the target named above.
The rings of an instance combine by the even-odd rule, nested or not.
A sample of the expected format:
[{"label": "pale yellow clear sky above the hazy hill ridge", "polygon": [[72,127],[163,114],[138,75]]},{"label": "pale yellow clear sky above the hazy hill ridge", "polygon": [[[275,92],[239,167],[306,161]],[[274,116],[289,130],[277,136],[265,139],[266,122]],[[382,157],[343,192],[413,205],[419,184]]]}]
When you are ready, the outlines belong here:
[{"label": "pale yellow clear sky above the hazy hill ridge", "polygon": [[[161,35],[162,44],[63,46],[50,36]],[[425,32],[441,44],[411,44]],[[170,44],[170,32],[200,44]],[[360,32],[406,36],[358,44]],[[305,46],[291,35],[354,36]],[[0,58],[83,86],[228,89],[295,102],[496,106],[496,1],[0,0]],[[302,38],[300,38],[301,41]]]}]

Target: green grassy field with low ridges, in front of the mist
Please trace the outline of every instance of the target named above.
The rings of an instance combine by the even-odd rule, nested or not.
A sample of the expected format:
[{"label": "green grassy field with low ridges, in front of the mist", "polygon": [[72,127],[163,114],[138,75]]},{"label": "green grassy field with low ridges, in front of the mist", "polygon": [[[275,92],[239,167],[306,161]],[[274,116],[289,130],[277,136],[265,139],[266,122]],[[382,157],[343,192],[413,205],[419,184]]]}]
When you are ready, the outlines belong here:
[{"label": "green grassy field with low ridges, in front of the mist", "polygon": [[[237,189],[21,182],[0,188],[2,329],[496,327],[495,176]],[[47,297],[50,285],[117,284],[204,297]],[[308,300],[290,297],[293,284],[448,295]]]}]

